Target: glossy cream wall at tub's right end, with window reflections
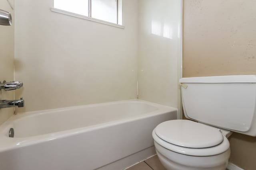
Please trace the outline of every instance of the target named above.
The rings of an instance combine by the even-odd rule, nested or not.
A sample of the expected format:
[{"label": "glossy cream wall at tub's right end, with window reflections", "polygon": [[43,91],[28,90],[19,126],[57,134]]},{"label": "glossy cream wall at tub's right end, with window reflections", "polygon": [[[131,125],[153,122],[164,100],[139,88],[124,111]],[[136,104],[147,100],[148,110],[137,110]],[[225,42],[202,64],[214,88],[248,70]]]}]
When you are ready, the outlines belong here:
[{"label": "glossy cream wall at tub's right end, with window reflections", "polygon": [[138,1],[139,98],[176,108],[180,107],[180,2]]}]

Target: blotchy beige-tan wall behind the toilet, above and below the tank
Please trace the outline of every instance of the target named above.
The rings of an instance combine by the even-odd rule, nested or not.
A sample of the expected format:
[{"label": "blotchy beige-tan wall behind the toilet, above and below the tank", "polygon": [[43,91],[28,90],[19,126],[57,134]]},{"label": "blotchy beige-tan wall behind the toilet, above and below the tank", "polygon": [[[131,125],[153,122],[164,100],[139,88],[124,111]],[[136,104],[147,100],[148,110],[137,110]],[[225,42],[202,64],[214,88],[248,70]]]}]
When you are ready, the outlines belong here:
[{"label": "blotchy beige-tan wall behind the toilet, above and below the tank", "polygon": [[[256,74],[256,1],[184,0],[183,76]],[[256,137],[234,133],[230,162],[256,168]]]}]

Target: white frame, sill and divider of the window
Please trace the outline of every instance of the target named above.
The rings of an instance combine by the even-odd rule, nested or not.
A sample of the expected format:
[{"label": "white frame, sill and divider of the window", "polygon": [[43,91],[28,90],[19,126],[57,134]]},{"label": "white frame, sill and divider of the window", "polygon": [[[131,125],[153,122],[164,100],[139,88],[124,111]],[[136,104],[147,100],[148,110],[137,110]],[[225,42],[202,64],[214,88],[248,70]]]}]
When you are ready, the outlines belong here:
[{"label": "white frame, sill and divider of the window", "polygon": [[76,17],[76,18],[80,18],[80,19],[84,19],[84,20],[89,20],[89,21],[94,21],[94,22],[97,22],[97,23],[102,23],[102,24],[105,24],[105,25],[110,25],[110,26],[113,26],[113,27],[118,27],[118,28],[122,28],[124,29],[124,13],[123,13],[123,6],[124,6],[124,0],[122,0],[122,6],[121,6],[121,17],[122,17],[122,25],[118,24],[119,22],[119,12],[120,12],[120,9],[118,9],[119,5],[118,5],[118,1],[119,0],[116,0],[116,5],[117,5],[117,10],[116,10],[116,21],[117,23],[112,23],[112,22],[108,22],[108,21],[104,21],[104,20],[99,20],[99,19],[96,19],[96,18],[92,18],[92,0],[88,0],[88,16],[84,16],[84,15],[80,15],[80,14],[76,14],[76,13],[73,13],[73,12],[69,12],[69,11],[65,11],[65,10],[61,10],[61,9],[58,9],[58,8],[54,8],[54,0],[53,0],[53,4],[52,4],[52,8],[50,9],[52,12],[56,12],[56,13],[59,13],[59,14],[64,14],[64,15],[67,15],[67,16],[72,16],[72,17]]}]

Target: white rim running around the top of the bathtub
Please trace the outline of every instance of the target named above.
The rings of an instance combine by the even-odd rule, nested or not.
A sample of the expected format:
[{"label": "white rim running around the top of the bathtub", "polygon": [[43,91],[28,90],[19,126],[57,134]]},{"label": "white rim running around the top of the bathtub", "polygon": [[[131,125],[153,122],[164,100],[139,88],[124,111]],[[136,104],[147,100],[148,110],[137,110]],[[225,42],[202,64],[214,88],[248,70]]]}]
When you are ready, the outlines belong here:
[{"label": "white rim running around the top of the bathtub", "polygon": [[[152,105],[154,107],[158,107],[156,111],[151,111],[148,113],[145,113],[143,115],[138,115],[138,116],[133,116],[130,118],[125,118],[125,119],[119,119],[116,121],[109,121],[106,123],[99,123],[96,125],[90,125],[86,127],[79,127],[75,129],[69,129],[65,131],[58,131],[54,133],[46,133],[42,135],[34,135],[30,137],[14,137],[10,138],[6,135],[6,132],[8,132],[8,129],[12,126],[12,122],[18,119],[22,119],[24,117],[28,116],[34,116],[37,114],[49,114],[51,112],[56,112],[56,111],[63,111],[66,109],[79,109],[79,108],[84,108],[84,107],[95,107],[98,105],[109,105],[109,104],[116,104],[116,103],[123,103],[123,102],[142,102],[146,103],[149,105]],[[65,137],[70,137],[73,135],[78,135],[81,133],[86,133],[90,131],[95,131],[97,129],[101,128],[106,128],[110,126],[115,126],[115,125],[120,125],[123,123],[128,123],[131,121],[137,121],[140,119],[146,119],[148,117],[154,117],[160,114],[166,114],[169,112],[174,112],[176,111],[176,114],[178,115],[178,109],[170,106],[164,106],[144,100],[139,100],[139,99],[133,99],[133,100],[121,100],[117,102],[106,102],[106,103],[100,103],[100,104],[89,104],[89,105],[82,105],[82,106],[72,106],[72,107],[62,107],[62,108],[57,108],[57,109],[47,109],[47,110],[40,110],[40,111],[29,111],[29,112],[23,112],[19,113],[18,115],[12,115],[6,122],[4,122],[2,125],[0,125],[0,152],[4,152],[7,150],[12,150],[12,149],[17,149],[20,147],[26,147],[29,145],[35,145],[38,143],[43,143],[51,140],[56,140],[56,139],[62,139]],[[15,130],[15,129],[14,129]]]}]

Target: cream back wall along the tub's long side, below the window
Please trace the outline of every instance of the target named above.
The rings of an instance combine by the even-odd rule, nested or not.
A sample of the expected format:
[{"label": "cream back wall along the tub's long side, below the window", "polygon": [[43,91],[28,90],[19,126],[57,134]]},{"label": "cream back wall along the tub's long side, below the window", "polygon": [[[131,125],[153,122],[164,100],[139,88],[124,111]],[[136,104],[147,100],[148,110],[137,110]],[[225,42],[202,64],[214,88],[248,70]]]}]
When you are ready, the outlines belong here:
[{"label": "cream back wall along the tub's long side, below the window", "polygon": [[51,12],[53,0],[15,1],[18,111],[137,97],[137,0],[123,4],[125,29]]}]

